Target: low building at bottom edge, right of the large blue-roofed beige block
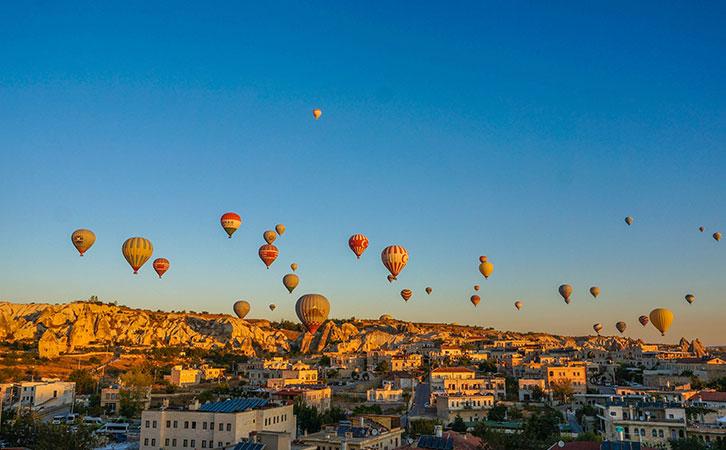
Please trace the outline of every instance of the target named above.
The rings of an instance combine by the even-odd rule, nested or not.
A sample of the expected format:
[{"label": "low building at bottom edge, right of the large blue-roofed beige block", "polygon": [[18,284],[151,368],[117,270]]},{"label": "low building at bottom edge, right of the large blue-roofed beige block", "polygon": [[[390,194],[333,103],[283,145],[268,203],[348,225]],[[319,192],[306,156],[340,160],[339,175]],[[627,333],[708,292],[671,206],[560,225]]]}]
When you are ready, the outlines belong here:
[{"label": "low building at bottom edge, right of the large blue-roofed beige block", "polygon": [[401,444],[402,428],[388,429],[364,418],[325,426],[317,433],[298,437],[306,445],[322,450],[393,450]]}]

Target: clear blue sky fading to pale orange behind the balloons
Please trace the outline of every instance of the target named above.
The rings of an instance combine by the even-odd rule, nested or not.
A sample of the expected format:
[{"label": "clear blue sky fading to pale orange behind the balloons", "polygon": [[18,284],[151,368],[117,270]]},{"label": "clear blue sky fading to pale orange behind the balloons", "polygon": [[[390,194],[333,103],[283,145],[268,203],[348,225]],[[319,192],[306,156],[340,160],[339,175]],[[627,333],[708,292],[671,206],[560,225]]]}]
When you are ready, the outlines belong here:
[{"label": "clear blue sky fading to pale orange behind the balloons", "polygon": [[[1,299],[243,298],[293,319],[319,292],[334,317],[624,320],[650,341],[637,317],[663,306],[665,341],[726,344],[723,2],[63,3],[0,5]],[[226,211],[244,220],[231,240]],[[79,258],[82,227],[98,240]],[[139,235],[171,260],[164,279],[121,257]],[[411,255],[392,285],[389,244]]]}]

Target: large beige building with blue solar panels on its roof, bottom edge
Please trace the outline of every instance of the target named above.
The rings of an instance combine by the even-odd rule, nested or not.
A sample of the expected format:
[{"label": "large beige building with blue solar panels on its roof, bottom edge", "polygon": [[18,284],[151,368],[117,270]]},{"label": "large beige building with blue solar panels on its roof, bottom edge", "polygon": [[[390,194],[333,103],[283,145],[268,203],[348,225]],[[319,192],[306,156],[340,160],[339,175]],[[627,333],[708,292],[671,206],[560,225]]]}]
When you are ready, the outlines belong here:
[{"label": "large beige building with blue solar panels on its roof, bottom edge", "polygon": [[205,403],[198,409],[145,410],[141,414],[140,450],[220,448],[259,431],[295,435],[291,404],[260,398]]}]

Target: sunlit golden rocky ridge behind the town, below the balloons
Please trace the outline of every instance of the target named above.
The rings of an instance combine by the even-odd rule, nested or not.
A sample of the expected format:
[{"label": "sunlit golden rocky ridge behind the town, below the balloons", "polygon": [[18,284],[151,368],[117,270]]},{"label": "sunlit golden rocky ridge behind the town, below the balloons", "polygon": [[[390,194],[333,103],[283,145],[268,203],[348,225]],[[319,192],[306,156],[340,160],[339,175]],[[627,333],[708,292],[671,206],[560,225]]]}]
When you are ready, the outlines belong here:
[{"label": "sunlit golden rocky ridge behind the town, below the balloons", "polygon": [[[439,340],[449,344],[486,339],[527,339],[547,347],[589,346],[622,349],[635,341],[620,337],[559,337],[542,333],[499,332],[455,324],[411,323],[394,319],[330,320],[313,336],[276,328],[266,320],[226,314],[133,309],[98,301],[66,304],[0,302],[0,339],[37,345],[40,356],[99,346],[228,348],[245,355],[370,351]],[[695,341],[694,341],[695,343]],[[700,345],[700,342],[698,343]]]}]

